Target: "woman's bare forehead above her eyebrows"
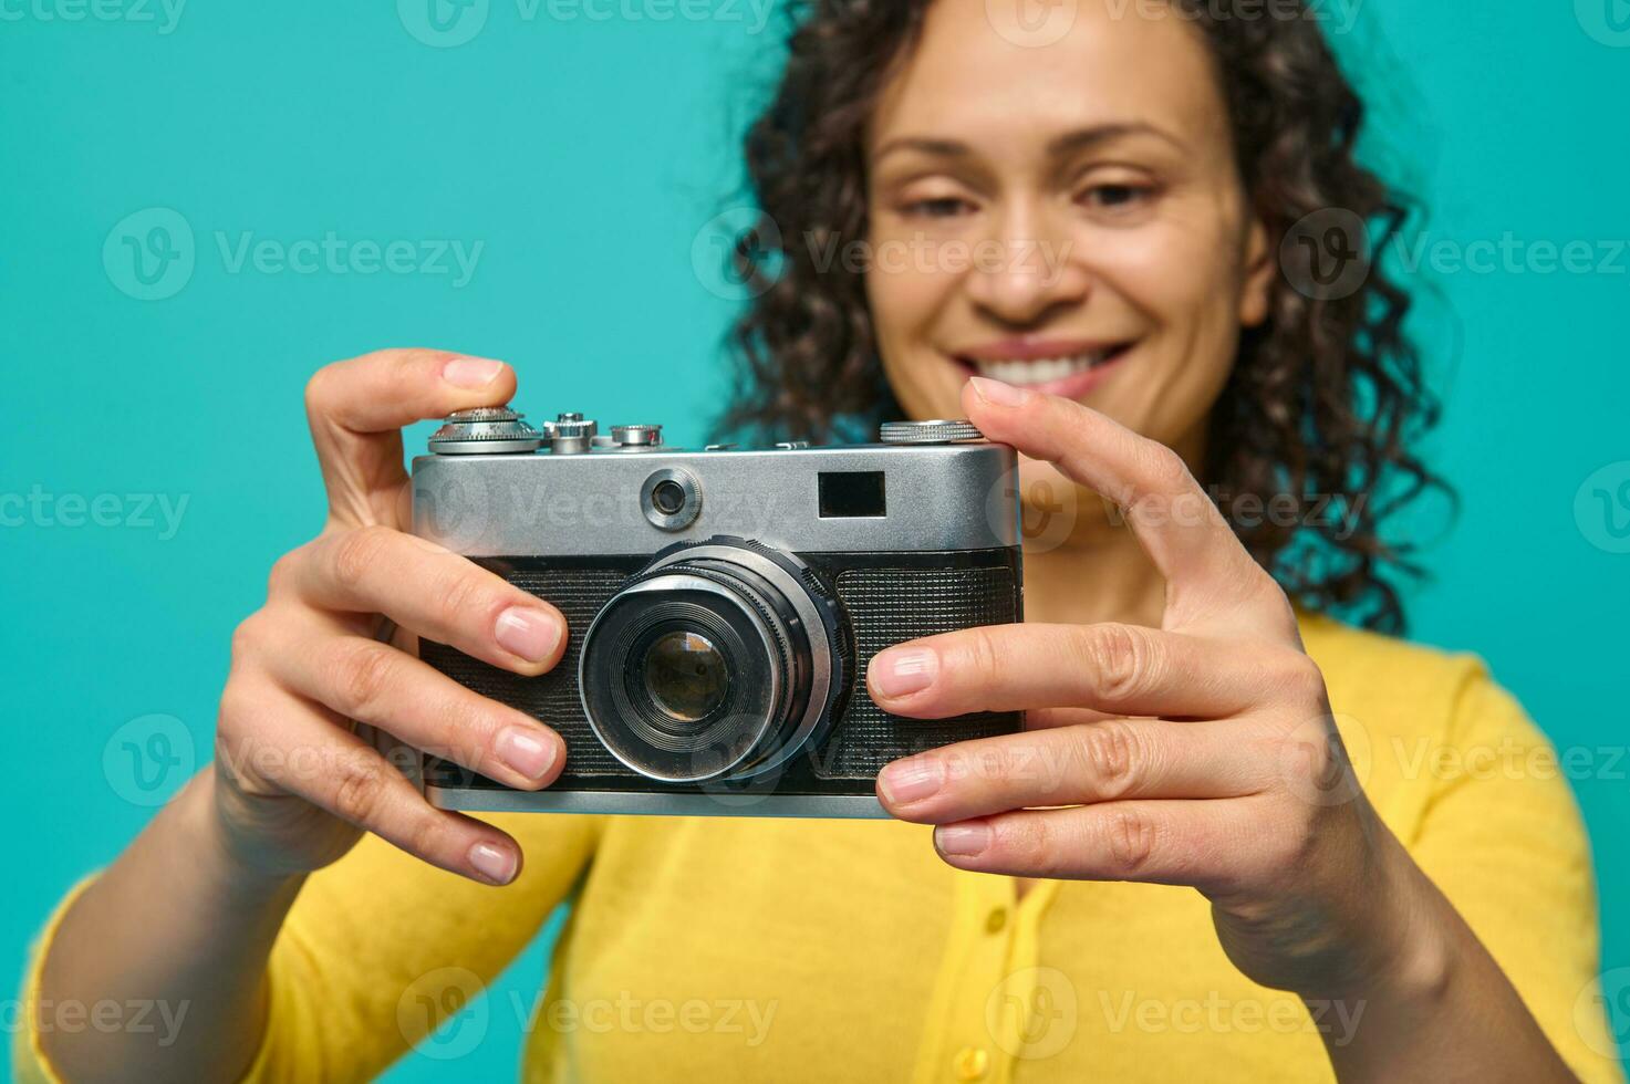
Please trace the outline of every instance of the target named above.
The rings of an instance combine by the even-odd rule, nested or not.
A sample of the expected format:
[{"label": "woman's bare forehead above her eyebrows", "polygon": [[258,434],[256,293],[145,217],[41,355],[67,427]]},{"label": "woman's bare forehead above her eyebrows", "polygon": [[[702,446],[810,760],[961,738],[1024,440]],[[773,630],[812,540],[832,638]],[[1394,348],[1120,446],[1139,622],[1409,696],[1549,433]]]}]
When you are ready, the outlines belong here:
[{"label": "woman's bare forehead above her eyebrows", "polygon": [[[1037,24],[1048,13],[1068,20],[1068,31],[1025,44],[1035,37],[1015,31],[1012,8]],[[942,135],[1002,153],[1128,121],[1200,143],[1218,139],[1222,111],[1203,31],[1161,3],[936,0],[918,47],[885,85],[870,143]]]}]

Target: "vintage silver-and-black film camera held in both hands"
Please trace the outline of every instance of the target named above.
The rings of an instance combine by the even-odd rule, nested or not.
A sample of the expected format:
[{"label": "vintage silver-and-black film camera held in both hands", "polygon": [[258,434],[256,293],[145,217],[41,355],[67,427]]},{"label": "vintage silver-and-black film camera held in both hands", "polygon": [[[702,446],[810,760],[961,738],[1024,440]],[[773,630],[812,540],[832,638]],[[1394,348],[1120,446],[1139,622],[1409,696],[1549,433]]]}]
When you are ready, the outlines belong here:
[{"label": "vintage silver-and-black film camera held in both hands", "polygon": [[455,414],[412,468],[414,533],[556,605],[561,663],[518,676],[422,657],[566,738],[541,792],[427,755],[442,809],[879,817],[879,769],[1022,717],[882,711],[893,644],[1022,619],[1012,448],[968,422],[887,424],[875,445],[681,452],[660,425],[541,430]]}]

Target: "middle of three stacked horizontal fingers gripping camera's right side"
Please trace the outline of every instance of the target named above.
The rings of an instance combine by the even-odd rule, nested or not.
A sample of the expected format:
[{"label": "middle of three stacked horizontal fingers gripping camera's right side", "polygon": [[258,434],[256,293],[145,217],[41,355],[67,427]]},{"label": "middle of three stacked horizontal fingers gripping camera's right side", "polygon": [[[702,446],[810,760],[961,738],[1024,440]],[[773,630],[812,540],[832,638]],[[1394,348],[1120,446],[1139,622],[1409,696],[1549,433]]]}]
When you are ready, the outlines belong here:
[{"label": "middle of three stacked horizontal fingers gripping camera's right side", "polygon": [[1105,719],[896,760],[877,776],[877,797],[901,820],[944,825],[1015,809],[1244,797],[1273,784],[1273,765],[1249,724]]}]

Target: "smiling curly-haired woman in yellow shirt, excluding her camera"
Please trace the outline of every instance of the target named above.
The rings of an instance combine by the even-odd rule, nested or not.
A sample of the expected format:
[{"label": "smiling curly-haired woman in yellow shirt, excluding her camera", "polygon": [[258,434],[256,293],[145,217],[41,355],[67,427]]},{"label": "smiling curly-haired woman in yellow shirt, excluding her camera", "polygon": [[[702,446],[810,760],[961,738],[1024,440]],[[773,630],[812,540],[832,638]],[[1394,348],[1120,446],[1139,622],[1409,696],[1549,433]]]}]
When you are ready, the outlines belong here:
[{"label": "smiling curly-haired woman in yellow shirt, excluding her camera", "polygon": [[[895,822],[432,810],[346,720],[518,787],[564,756],[370,637],[385,615],[561,660],[557,611],[401,533],[399,427],[515,373],[331,365],[306,394],[329,523],[238,631],[217,763],[64,906],[33,980],[186,1020],[37,1029],[24,1073],[372,1074],[580,882],[526,1079],[1619,1079],[1565,784],[1430,766],[1544,738],[1474,662],[1319,616],[1397,628],[1372,494],[1430,481],[1430,411],[1394,284],[1315,300],[1280,269],[1319,209],[1397,223],[1317,24],[810,7],[748,139],[787,243],[743,254],[734,421],[967,414],[1029,456],[1029,522],[1053,517],[1029,623],[867,673],[900,716],[1027,732],[892,765]],[[854,240],[864,267],[822,261]],[[1294,522],[1249,513],[1275,492]],[[1306,515],[1319,494],[1345,517]]]}]

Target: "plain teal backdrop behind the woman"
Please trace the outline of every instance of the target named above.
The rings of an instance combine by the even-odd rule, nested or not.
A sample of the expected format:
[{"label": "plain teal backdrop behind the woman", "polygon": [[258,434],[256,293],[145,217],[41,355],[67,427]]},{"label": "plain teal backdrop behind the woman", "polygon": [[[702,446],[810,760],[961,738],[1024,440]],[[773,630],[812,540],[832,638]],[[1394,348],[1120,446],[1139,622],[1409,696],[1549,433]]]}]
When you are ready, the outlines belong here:
[{"label": "plain teal backdrop behind the woman", "polygon": [[[1338,46],[1382,57],[1361,62],[1377,153],[1408,163],[1431,238],[1630,238],[1630,33],[1609,21],[1615,2],[1325,5],[1361,8]],[[8,3],[23,16],[0,21],[0,496],[187,499],[173,538],[0,528],[16,828],[3,975],[21,973],[60,893],[140,828],[137,802],[207,755],[230,632],[274,557],[319,527],[300,401],[319,364],[408,344],[504,357],[535,414],[582,404],[704,437],[732,303],[693,269],[693,246],[711,251],[704,223],[732,205],[735,139],[776,60],[745,3],[737,20],[561,21],[481,0],[484,26],[455,47],[409,31],[435,39],[414,0],[194,0],[170,33],[156,3],[132,8],[108,10],[155,21],[41,18],[68,0]],[[155,207],[194,231],[194,269],[171,297],[137,300],[121,238],[165,218],[116,225]],[[215,243],[329,230],[482,251],[458,287],[447,274],[231,274]],[[1431,455],[1464,505],[1447,535],[1430,531],[1436,580],[1412,593],[1415,636],[1482,654],[1560,747],[1596,751],[1573,784],[1610,973],[1630,968],[1630,782],[1606,753],[1623,751],[1630,722],[1630,554],[1575,499],[1602,468],[1610,484],[1630,476],[1627,269],[1630,254],[1617,274],[1416,277],[1443,298],[1420,323],[1447,401]],[[163,753],[153,734],[171,771],[143,791],[124,742]],[[487,1042],[458,1076],[513,1076],[509,994],[530,1004],[544,967],[540,944],[497,985]],[[1630,1019],[1615,1025],[1630,1035]],[[447,1069],[414,1055],[391,1079]]]}]

